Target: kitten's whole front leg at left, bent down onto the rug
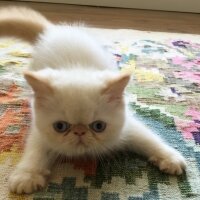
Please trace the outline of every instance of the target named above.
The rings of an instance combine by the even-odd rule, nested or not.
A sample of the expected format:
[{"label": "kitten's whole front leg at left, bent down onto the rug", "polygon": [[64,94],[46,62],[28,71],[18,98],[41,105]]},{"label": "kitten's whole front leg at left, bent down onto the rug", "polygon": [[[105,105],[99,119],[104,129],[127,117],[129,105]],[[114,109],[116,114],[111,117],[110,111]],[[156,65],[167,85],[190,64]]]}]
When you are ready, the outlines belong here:
[{"label": "kitten's whole front leg at left, bent down onto the rug", "polygon": [[11,192],[22,194],[32,193],[45,187],[50,175],[50,166],[54,154],[48,151],[41,140],[36,139],[35,133],[28,137],[24,155],[10,175],[9,189]]}]

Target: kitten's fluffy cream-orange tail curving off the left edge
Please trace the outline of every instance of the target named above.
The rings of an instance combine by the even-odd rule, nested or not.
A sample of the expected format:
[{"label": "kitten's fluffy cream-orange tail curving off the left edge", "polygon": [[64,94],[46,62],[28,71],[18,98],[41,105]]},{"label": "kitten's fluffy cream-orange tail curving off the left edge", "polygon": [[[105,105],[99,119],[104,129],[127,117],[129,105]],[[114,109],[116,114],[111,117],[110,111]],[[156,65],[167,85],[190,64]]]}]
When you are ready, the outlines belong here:
[{"label": "kitten's fluffy cream-orange tail curving off the left edge", "polygon": [[0,9],[0,36],[18,37],[34,43],[38,35],[51,25],[40,13],[25,7]]}]

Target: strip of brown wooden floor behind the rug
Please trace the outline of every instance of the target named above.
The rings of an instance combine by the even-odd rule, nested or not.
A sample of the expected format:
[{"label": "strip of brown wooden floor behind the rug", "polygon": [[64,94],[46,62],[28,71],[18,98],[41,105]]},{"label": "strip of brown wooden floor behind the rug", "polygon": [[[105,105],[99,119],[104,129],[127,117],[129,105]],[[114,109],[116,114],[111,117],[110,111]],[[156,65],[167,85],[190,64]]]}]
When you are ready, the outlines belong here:
[{"label": "strip of brown wooden floor behind the rug", "polygon": [[82,21],[94,27],[200,34],[200,14],[66,4],[0,1],[0,6],[30,6],[54,22]]}]

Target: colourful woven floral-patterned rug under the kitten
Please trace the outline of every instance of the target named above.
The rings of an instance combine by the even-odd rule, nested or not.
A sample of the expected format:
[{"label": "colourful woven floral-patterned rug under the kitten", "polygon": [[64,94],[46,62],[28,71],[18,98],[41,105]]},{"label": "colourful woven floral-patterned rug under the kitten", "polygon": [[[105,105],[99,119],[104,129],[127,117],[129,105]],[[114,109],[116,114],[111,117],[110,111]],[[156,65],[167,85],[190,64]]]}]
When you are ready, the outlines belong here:
[{"label": "colourful woven floral-patterned rug under the kitten", "polygon": [[187,159],[184,175],[160,172],[131,152],[98,160],[59,162],[45,190],[8,192],[30,126],[30,93],[23,78],[31,47],[0,40],[0,199],[160,200],[200,199],[200,36],[133,30],[91,30],[102,35],[119,70],[132,72],[127,88],[138,118]]}]

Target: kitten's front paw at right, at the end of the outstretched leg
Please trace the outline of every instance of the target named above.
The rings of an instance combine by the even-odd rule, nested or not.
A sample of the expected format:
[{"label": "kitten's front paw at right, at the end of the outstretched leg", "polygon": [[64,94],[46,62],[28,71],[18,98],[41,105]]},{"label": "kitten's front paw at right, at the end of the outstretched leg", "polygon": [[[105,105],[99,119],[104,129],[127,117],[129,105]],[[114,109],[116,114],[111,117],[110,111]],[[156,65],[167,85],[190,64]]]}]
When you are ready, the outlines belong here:
[{"label": "kitten's front paw at right, at the end of the outstretched leg", "polygon": [[161,155],[153,155],[149,158],[149,161],[168,174],[181,175],[184,172],[186,161],[179,152],[171,150]]}]

